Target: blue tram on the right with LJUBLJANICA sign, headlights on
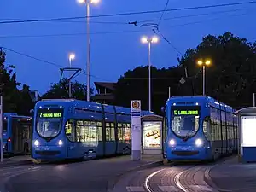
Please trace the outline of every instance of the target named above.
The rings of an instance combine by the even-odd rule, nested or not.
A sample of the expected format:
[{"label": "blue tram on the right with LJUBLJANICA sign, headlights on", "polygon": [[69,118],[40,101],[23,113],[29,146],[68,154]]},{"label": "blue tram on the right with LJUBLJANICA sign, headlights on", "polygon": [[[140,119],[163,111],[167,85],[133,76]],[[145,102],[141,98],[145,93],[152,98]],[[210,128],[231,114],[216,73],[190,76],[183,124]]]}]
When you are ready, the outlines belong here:
[{"label": "blue tram on the right with LJUBLJANICA sign, headlights on", "polygon": [[235,110],[209,96],[172,96],[166,102],[165,156],[216,160],[237,151]]}]

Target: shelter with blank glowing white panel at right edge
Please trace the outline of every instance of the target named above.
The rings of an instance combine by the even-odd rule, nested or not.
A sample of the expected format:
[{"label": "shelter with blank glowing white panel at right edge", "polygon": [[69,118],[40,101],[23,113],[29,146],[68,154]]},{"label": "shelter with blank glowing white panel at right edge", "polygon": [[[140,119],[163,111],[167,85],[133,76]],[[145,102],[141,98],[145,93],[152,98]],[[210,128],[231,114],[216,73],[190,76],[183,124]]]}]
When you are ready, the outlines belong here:
[{"label": "shelter with blank glowing white panel at right edge", "polygon": [[238,154],[242,162],[256,162],[256,107],[241,108],[238,114]]}]

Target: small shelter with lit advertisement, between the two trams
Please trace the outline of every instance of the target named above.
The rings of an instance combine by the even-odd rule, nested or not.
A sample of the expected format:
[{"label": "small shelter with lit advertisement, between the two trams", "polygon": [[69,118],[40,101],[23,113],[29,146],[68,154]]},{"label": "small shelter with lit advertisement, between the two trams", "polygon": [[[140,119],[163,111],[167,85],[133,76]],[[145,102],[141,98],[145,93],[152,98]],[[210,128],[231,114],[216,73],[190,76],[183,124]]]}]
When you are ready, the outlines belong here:
[{"label": "small shelter with lit advertisement, between the two trams", "polygon": [[143,154],[163,153],[163,117],[155,114],[142,117]]}]

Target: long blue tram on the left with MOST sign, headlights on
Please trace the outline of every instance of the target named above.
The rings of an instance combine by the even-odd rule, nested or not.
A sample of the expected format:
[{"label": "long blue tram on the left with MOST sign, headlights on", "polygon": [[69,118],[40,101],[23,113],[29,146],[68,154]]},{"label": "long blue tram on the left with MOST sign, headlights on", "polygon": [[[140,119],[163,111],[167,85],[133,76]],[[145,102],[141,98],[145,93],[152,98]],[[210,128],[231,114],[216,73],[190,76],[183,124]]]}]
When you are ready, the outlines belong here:
[{"label": "long blue tram on the left with MOST sign, headlights on", "polygon": [[35,160],[131,153],[131,108],[72,99],[43,100],[36,104],[33,119]]}]

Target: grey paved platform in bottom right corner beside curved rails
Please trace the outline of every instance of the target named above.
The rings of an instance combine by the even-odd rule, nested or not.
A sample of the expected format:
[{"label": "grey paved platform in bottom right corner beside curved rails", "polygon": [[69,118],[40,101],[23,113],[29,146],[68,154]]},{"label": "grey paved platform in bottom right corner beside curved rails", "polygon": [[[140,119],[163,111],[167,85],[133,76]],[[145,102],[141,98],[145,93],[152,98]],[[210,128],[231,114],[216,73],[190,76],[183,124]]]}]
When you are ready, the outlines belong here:
[{"label": "grey paved platform in bottom right corner beside curved rails", "polygon": [[213,167],[209,176],[218,191],[256,191],[256,163],[243,164],[238,161],[237,156]]}]

